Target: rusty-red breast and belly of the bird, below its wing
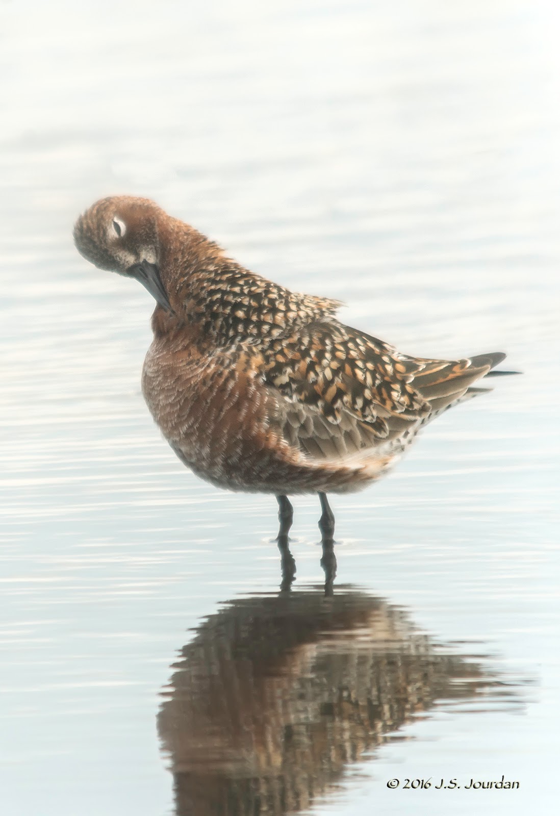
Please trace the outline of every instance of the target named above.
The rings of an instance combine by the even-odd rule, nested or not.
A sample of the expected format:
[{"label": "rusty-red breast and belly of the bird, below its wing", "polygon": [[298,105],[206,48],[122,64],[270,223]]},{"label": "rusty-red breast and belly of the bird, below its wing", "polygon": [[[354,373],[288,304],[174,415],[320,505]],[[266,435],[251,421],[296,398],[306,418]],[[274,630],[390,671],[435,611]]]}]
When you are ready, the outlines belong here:
[{"label": "rusty-red breast and belly of the bird, below its wing", "polygon": [[287,444],[269,390],[256,379],[212,358],[167,353],[155,341],[144,361],[142,391],[180,460],[202,479],[229,490],[361,490],[384,476],[404,449],[394,440],[356,458],[309,458]]}]

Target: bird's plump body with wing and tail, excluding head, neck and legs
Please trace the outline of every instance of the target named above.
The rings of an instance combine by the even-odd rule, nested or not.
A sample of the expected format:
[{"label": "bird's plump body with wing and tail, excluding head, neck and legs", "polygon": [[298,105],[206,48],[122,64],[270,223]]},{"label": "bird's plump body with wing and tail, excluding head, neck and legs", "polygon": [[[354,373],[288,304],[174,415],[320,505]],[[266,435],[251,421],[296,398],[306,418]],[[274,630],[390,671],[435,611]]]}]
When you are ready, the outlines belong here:
[{"label": "bird's plump body with wing and tail, excluding head, neck and legs", "polygon": [[144,366],[148,404],[189,467],[240,490],[358,490],[504,357],[410,357],[344,326],[339,306],[228,259],[191,275],[188,322],[156,326]]}]

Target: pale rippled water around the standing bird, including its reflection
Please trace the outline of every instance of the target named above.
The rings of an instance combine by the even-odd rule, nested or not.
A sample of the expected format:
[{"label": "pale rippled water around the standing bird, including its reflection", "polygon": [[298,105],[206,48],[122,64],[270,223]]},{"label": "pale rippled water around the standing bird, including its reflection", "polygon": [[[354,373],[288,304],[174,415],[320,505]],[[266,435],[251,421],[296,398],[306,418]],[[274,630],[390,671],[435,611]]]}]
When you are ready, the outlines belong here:
[{"label": "pale rippled water around the standing bird, including its reflection", "polygon": [[[558,11],[458,6],[2,4],[2,812],[204,814],[180,773],[223,814],[556,812]],[[332,599],[316,499],[278,596],[275,501],[153,426],[149,295],[71,241],[125,192],[404,351],[524,372],[332,500]]]}]

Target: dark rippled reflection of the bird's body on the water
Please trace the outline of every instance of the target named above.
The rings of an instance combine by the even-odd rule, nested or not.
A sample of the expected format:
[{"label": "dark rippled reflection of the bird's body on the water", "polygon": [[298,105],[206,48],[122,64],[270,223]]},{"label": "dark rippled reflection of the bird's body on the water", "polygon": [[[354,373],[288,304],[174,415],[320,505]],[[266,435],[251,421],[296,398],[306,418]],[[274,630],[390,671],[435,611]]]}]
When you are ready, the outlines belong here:
[{"label": "dark rippled reflection of the bird's body on the water", "polygon": [[438,701],[513,695],[351,587],[229,601],[172,668],[158,730],[177,816],[300,813]]}]

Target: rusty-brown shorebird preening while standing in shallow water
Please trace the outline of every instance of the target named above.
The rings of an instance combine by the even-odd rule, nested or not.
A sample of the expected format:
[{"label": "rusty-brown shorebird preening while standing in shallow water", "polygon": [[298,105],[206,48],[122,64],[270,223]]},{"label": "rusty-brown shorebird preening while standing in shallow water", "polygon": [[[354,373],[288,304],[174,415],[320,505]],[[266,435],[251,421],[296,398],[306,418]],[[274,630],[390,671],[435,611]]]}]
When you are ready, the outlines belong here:
[{"label": "rusty-brown shorebird preening while standing in shallow water", "polygon": [[[181,462],[220,488],[273,494],[286,555],[288,496],[362,490],[424,425],[475,397],[505,354],[412,357],[336,317],[339,300],[293,292],[244,268],[155,202],[113,196],[73,229],[81,255],[134,278],[156,301],[144,399]],[[336,561],[335,561],[336,563]],[[295,568],[294,568],[295,569]]]}]

